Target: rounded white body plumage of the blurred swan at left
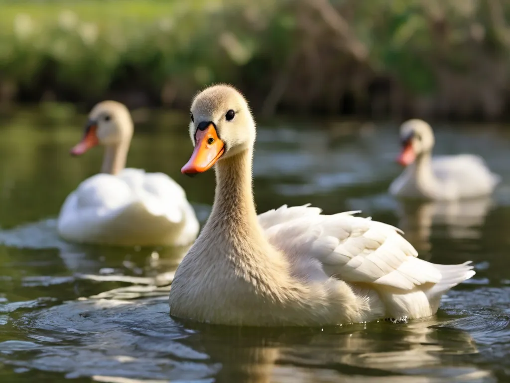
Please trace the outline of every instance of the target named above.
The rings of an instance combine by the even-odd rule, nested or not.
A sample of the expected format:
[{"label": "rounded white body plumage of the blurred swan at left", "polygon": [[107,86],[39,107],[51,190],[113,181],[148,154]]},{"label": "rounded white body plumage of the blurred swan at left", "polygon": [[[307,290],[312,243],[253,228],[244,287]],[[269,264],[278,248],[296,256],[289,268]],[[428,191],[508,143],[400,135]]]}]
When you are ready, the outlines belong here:
[{"label": "rounded white body plumage of the blurred swan at left", "polygon": [[141,169],[86,179],[67,197],[58,221],[60,235],[79,243],[181,246],[198,230],[183,188]]}]

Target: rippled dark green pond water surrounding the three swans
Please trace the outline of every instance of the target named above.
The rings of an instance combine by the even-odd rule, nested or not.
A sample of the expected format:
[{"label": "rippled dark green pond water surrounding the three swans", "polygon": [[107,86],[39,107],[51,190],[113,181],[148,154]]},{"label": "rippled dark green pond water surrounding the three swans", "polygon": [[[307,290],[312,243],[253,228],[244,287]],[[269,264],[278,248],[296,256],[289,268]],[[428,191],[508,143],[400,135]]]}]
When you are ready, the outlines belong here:
[{"label": "rippled dark green pond water surrounding the three swans", "polygon": [[[201,222],[211,173],[180,174],[187,116],[135,115],[128,165],[180,182]],[[99,169],[101,151],[70,158],[84,116],[20,110],[0,130],[0,380],[8,382],[440,382],[510,378],[510,137],[504,128],[437,128],[437,153],[482,155],[503,184],[491,199],[402,205],[386,193],[400,168],[396,126],[260,124],[259,211],[312,204],[361,209],[399,226],[420,256],[477,274],[436,317],[303,329],[196,325],[168,316],[172,272],[186,249],[77,246],[59,240],[65,197]],[[483,128],[483,129],[482,129]]]}]

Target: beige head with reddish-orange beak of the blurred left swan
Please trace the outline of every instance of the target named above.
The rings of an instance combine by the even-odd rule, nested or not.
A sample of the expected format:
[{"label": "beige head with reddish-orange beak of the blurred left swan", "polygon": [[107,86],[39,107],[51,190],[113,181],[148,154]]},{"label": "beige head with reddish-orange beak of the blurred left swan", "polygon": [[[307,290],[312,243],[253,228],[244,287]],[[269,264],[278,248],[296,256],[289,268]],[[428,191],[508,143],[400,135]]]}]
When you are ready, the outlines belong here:
[{"label": "beige head with reddish-orange beak of the blurred left swan", "polygon": [[117,146],[129,142],[133,135],[133,120],[124,104],[103,101],[89,113],[82,140],[71,149],[78,156],[97,145]]}]

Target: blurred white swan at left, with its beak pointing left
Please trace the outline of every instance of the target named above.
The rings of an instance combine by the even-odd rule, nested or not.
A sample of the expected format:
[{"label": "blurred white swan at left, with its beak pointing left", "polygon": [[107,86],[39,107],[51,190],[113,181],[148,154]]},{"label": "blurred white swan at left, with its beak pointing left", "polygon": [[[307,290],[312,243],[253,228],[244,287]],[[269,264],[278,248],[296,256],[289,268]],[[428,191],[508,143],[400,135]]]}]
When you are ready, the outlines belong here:
[{"label": "blurred white swan at left, with its beak pointing left", "polygon": [[58,232],[65,240],[121,246],[195,240],[199,224],[183,188],[163,173],[124,169],[132,135],[124,105],[105,101],[90,112],[85,136],[71,154],[105,146],[102,173],[83,181],[64,202]]}]

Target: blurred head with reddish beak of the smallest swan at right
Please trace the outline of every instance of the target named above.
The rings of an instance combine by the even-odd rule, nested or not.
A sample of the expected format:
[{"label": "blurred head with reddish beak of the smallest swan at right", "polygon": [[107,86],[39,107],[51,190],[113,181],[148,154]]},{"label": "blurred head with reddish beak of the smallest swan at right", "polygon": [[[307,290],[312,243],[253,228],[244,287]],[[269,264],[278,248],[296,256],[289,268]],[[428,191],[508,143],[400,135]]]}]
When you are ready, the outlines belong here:
[{"label": "blurred head with reddish beak of the smallest swan at right", "polygon": [[402,152],[398,163],[403,166],[413,163],[417,156],[429,153],[434,146],[432,128],[421,119],[410,119],[400,126],[400,142]]}]

